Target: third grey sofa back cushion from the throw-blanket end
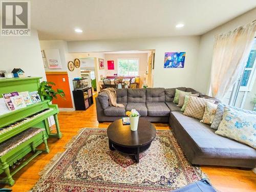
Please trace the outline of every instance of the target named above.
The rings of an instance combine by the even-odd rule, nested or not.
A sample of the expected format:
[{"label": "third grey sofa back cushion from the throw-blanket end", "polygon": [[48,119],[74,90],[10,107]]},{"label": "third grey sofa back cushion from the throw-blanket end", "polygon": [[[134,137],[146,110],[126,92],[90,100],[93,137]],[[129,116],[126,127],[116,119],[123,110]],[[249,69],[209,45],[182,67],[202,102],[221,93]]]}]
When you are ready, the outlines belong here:
[{"label": "third grey sofa back cushion from the throw-blanket end", "polygon": [[146,88],[146,102],[164,102],[164,88]]}]

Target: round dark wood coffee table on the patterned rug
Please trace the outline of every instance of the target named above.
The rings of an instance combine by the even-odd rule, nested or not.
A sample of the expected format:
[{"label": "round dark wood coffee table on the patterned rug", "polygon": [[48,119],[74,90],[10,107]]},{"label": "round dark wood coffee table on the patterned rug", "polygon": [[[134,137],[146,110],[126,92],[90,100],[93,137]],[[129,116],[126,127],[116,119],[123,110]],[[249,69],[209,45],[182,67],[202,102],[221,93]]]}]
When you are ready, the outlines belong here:
[{"label": "round dark wood coffee table on the patterned rug", "polygon": [[134,155],[139,163],[140,153],[146,151],[156,137],[156,128],[151,122],[140,117],[138,130],[131,131],[130,125],[123,125],[122,119],[118,119],[109,125],[107,134],[111,151]]}]

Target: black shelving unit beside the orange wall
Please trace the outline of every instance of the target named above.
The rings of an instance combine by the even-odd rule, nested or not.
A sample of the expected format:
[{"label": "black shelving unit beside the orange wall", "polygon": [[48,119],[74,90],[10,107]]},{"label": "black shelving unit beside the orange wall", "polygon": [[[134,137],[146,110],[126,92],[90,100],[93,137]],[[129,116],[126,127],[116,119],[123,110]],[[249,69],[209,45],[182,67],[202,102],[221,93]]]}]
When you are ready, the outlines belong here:
[{"label": "black shelving unit beside the orange wall", "polygon": [[73,91],[76,110],[87,110],[93,104],[92,87]]}]

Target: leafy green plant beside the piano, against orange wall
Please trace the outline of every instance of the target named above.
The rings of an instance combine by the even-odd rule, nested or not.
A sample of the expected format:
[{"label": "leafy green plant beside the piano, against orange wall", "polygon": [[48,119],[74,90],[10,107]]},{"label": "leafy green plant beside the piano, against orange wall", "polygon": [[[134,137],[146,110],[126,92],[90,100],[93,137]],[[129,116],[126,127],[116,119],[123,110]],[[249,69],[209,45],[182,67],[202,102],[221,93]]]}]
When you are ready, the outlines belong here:
[{"label": "leafy green plant beside the piano, against orange wall", "polygon": [[61,98],[65,99],[65,93],[62,89],[54,90],[52,86],[55,86],[54,82],[42,81],[40,87],[38,88],[38,94],[44,98],[44,100],[52,101],[53,98],[57,98],[59,95]]}]

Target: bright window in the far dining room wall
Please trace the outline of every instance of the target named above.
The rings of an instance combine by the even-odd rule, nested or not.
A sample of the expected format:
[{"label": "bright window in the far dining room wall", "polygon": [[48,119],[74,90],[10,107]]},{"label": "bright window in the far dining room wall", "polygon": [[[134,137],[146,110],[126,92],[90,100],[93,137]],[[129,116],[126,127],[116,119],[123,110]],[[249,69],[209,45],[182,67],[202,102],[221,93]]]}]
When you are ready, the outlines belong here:
[{"label": "bright window in the far dining room wall", "polygon": [[118,62],[118,75],[123,76],[137,76],[139,75],[139,58],[117,59]]}]

